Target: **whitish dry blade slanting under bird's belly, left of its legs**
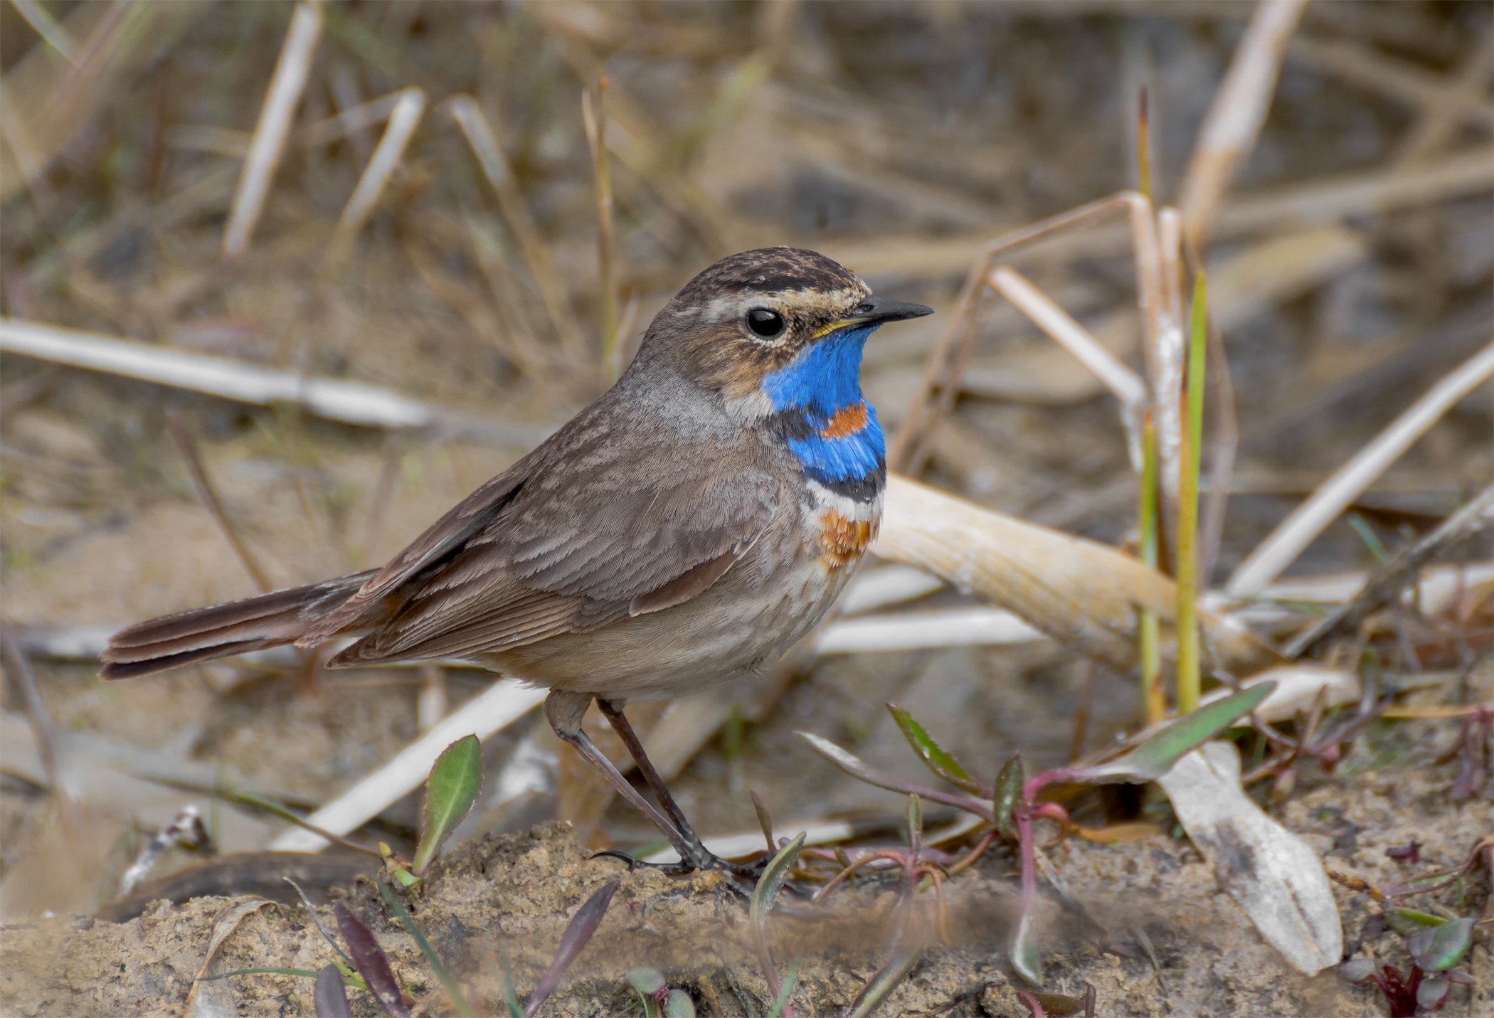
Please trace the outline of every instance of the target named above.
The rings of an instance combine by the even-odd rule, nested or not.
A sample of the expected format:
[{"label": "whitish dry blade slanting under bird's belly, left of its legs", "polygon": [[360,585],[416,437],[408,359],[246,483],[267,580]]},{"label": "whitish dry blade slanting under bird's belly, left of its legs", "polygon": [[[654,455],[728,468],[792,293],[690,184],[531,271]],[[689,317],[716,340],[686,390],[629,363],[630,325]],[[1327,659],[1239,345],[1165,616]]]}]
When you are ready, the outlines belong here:
[{"label": "whitish dry blade slanting under bird's belly, left of its legs", "polygon": [[[468,734],[475,734],[478,740],[487,738],[538,707],[544,698],[544,689],[524,688],[517,679],[495,683],[402,749],[391,761],[308,816],[306,822],[333,834],[357,830],[415,791],[426,780],[441,752],[453,741]],[[270,843],[276,852],[317,852],[326,846],[324,837],[300,828],[287,831]]]}]

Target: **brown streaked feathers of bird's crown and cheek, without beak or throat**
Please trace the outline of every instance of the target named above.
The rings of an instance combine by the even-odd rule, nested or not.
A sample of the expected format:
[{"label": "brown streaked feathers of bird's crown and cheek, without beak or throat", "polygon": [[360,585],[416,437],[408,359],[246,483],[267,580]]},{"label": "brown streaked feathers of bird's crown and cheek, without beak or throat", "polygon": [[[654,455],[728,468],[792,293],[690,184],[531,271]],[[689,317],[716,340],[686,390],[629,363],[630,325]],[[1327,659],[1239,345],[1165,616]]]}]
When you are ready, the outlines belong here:
[{"label": "brown streaked feathers of bird's crown and cheek, without beak or throat", "polygon": [[[663,306],[638,359],[668,357],[708,389],[747,396],[870,296],[859,277],[817,251],[743,251],[702,271]],[[754,309],[780,315],[781,330],[754,332],[747,318]]]}]

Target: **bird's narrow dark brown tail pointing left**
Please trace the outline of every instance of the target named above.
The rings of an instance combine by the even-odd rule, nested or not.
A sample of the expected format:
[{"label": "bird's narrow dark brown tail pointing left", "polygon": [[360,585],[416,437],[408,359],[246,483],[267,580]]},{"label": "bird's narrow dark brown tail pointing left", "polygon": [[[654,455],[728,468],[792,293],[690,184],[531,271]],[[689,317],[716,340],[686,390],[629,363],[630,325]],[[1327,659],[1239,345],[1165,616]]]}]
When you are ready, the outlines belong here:
[{"label": "bird's narrow dark brown tail pointing left", "polygon": [[194,661],[294,643],[374,576],[324,580],[140,622],[109,637],[103,679],[133,679]]}]

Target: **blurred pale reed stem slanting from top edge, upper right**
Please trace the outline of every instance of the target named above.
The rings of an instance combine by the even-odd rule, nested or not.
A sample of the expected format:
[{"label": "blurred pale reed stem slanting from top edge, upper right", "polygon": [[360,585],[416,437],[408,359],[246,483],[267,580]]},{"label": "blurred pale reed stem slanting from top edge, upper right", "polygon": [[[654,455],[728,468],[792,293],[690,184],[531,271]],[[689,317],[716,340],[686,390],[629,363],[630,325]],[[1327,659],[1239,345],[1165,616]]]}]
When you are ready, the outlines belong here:
[{"label": "blurred pale reed stem slanting from top edge, upper right", "polygon": [[1255,148],[1286,43],[1306,6],[1307,0],[1262,0],[1215,93],[1179,200],[1188,235],[1198,248],[1209,239],[1225,190]]}]

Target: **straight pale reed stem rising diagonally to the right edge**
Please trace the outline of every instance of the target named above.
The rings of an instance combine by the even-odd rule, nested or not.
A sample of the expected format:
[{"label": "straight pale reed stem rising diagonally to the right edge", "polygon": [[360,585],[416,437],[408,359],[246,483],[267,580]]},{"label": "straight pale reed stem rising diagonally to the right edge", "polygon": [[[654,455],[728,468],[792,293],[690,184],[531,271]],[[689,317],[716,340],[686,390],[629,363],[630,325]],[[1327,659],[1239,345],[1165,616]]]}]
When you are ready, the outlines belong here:
[{"label": "straight pale reed stem rising diagonally to the right edge", "polygon": [[1454,368],[1318,486],[1318,490],[1292,510],[1239,565],[1225,589],[1236,596],[1259,593],[1454,404],[1491,375],[1494,375],[1494,344]]}]

